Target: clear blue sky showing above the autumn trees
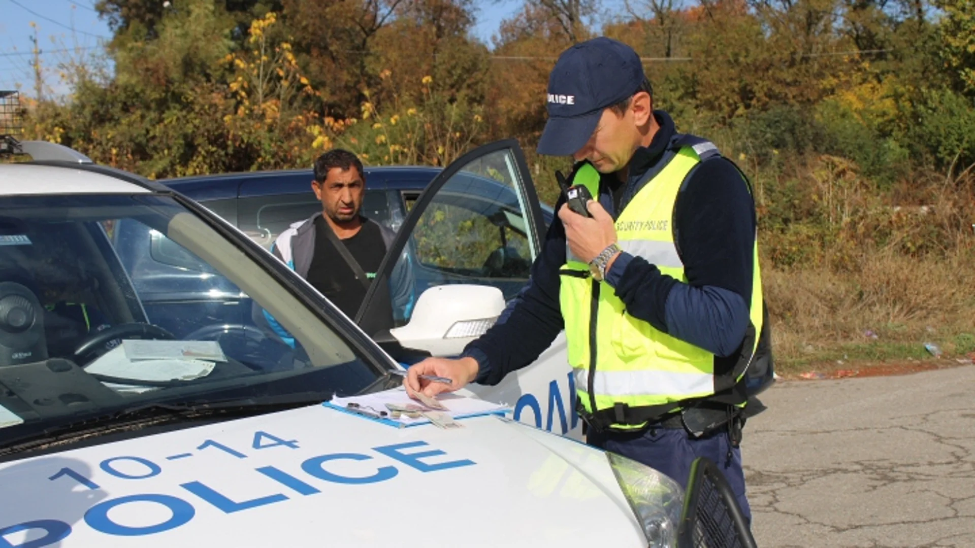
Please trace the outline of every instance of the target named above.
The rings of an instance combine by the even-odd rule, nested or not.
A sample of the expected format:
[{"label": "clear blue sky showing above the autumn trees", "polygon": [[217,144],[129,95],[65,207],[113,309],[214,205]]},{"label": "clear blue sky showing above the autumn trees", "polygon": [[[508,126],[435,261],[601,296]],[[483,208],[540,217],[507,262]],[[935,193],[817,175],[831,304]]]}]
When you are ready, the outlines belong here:
[{"label": "clear blue sky showing above the autumn trees", "polygon": [[[58,63],[97,52],[98,37],[111,36],[107,23],[98,19],[94,4],[95,0],[0,0],[0,89],[20,89],[25,95],[33,95],[33,21],[37,23],[41,65],[49,88],[46,93],[65,93],[66,87],[59,82]],[[487,0],[478,5],[474,34],[489,45],[501,20],[517,12],[522,2]]]}]

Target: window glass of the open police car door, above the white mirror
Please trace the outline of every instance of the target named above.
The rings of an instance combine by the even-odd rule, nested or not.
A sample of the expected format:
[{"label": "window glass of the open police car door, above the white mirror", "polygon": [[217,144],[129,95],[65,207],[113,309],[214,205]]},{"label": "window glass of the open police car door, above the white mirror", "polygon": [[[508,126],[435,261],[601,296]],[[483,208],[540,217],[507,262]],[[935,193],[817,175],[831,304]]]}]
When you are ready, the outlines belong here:
[{"label": "window glass of the open police car door, above the white mirror", "polygon": [[[404,194],[409,216],[376,278],[388,285],[398,323],[438,286],[488,286],[505,299],[525,287],[543,226],[526,173],[517,143],[500,141],[449,166],[418,199]],[[372,298],[380,293],[370,291],[358,315],[366,333],[379,325]]]}]

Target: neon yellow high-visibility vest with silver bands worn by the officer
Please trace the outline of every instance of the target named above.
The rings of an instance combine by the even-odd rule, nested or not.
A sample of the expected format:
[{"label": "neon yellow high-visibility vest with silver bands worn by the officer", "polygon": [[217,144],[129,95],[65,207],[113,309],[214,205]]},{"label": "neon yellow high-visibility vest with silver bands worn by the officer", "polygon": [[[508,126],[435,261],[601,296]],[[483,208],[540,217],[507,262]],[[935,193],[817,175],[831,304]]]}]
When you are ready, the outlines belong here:
[{"label": "neon yellow high-visibility vest with silver bands worn by the officer", "polygon": [[[687,280],[671,223],[683,180],[699,162],[694,148],[682,147],[643,185],[615,225],[623,251],[643,257],[661,273],[682,282]],[[596,169],[586,164],[572,182],[586,185],[593,196],[598,196],[599,180]],[[762,295],[757,243],[754,250],[750,317],[758,333]],[[634,318],[612,287],[589,276],[588,264],[571,254],[566,256],[560,303],[568,361],[579,402],[586,411],[612,408],[617,403],[630,407],[676,404],[715,393],[714,354]],[[751,350],[754,353],[754,344]],[[740,372],[735,380],[743,374]]]}]

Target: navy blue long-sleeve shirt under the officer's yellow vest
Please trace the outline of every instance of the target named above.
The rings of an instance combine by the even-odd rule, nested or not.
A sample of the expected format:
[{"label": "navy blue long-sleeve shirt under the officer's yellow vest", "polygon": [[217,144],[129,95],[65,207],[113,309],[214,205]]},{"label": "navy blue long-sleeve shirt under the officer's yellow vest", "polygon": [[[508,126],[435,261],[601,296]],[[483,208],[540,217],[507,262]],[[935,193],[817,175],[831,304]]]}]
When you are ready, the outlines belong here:
[{"label": "navy blue long-sleeve shirt under the officer's yellow vest", "polygon": [[[599,201],[618,217],[640,190],[638,183],[666,165],[676,130],[670,116],[655,111],[660,130],[630,160],[625,183],[601,177]],[[562,205],[557,204],[556,210]],[[629,314],[720,357],[737,352],[749,325],[752,297],[755,204],[745,180],[720,156],[702,161],[687,177],[674,212],[675,241],[687,283],[664,275],[642,257],[623,253],[605,282]],[[559,269],[565,264],[565,227],[553,220],[531,280],[498,322],[464,349],[480,366],[477,382],[496,384],[535,361],[564,329]]]}]

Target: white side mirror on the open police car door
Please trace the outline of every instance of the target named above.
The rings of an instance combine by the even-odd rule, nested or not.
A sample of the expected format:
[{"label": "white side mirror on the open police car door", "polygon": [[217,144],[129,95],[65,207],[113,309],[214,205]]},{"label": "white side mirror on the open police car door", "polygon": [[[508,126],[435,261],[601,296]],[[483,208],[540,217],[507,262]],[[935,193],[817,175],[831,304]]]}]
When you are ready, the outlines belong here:
[{"label": "white side mirror on the open police car door", "polygon": [[456,356],[468,342],[494,325],[504,310],[501,290],[488,286],[448,284],[423,292],[409,324],[390,330],[407,348],[434,356]]}]

